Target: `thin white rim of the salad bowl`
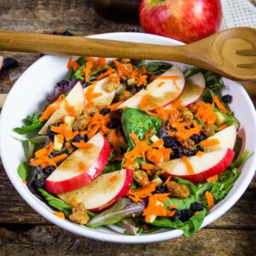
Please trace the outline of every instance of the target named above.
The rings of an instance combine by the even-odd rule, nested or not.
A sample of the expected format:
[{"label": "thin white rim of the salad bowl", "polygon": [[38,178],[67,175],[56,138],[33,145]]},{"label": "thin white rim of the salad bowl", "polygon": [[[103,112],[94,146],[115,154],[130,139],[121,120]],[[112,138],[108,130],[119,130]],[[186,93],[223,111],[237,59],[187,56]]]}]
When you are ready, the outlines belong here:
[{"label": "thin white rim of the salad bowl", "polygon": [[[102,34],[96,34],[96,35],[90,35],[89,37],[91,38],[101,38],[101,37],[117,37],[115,38],[116,40],[122,40],[122,36],[125,35],[126,37],[132,34],[133,36],[136,35],[139,38],[142,38],[142,40],[145,39],[150,39],[152,40],[155,38],[156,40],[160,40],[161,44],[162,42],[166,42],[166,44],[176,44],[176,45],[181,45],[183,43],[178,42],[177,40],[171,39],[171,38],[164,38],[156,35],[151,35],[151,34],[146,34],[146,33],[139,33],[139,32],[112,32],[112,33],[102,33]],[[120,39],[119,39],[120,38]],[[23,76],[26,76],[26,73],[30,72],[31,68],[40,66],[43,61],[48,61],[49,57],[51,55],[44,55],[37,61],[35,61],[30,67],[26,69],[24,73],[21,74],[20,78]],[[0,114],[0,142],[3,141],[1,137],[3,138],[3,119],[6,119],[7,117],[5,116],[6,113],[6,108],[8,108],[10,99],[15,91],[16,86],[18,85],[18,81],[20,78],[15,82],[13,85],[12,89],[9,91],[9,95],[6,98],[6,101],[3,105],[2,112]],[[240,84],[241,86],[241,84]],[[255,108],[253,106],[253,102],[251,101],[250,97],[247,95],[247,91],[241,86],[241,94],[242,96],[246,99],[248,103],[248,107],[250,110],[253,110],[253,119],[251,120],[251,125],[256,127],[256,112]],[[253,123],[253,124],[252,124]],[[0,143],[0,154],[3,162],[3,167],[5,172],[7,173],[9,180],[11,183],[14,185],[15,189],[18,191],[20,196],[26,201],[27,204],[29,204],[36,212],[38,212],[40,215],[42,215],[44,218],[48,219],[51,223],[56,224],[57,226],[61,227],[64,230],[68,230],[72,233],[75,233],[79,236],[84,236],[87,238],[91,239],[96,239],[100,241],[110,241],[110,242],[115,242],[115,243],[150,243],[150,242],[157,242],[157,241],[166,241],[170,240],[173,238],[177,238],[179,236],[183,235],[182,230],[166,230],[162,233],[154,233],[154,234],[148,234],[148,235],[143,235],[143,236],[124,236],[122,234],[107,234],[103,232],[98,232],[97,230],[91,230],[88,228],[85,228],[84,226],[81,226],[79,224],[73,224],[70,221],[66,219],[61,219],[56,217],[54,214],[51,212],[45,211],[44,207],[41,206],[37,200],[35,200],[35,196],[32,195],[30,191],[25,189],[23,183],[17,180],[15,177],[15,172],[13,172],[11,166],[9,166],[9,162],[4,157],[5,155],[5,149],[3,146],[3,143]],[[253,179],[253,175],[255,170],[253,169],[254,166],[256,166],[256,144],[254,147],[253,151],[253,162],[249,168],[249,171],[247,173],[247,176],[244,178],[241,187],[237,189],[232,195],[230,195],[230,198],[228,201],[225,202],[224,205],[218,207],[218,211],[216,212],[209,212],[207,216],[205,217],[203,224],[201,225],[201,228],[207,226],[208,224],[212,223],[214,220],[219,218],[221,215],[224,214],[224,212],[227,212],[230,207],[232,207],[236,201],[239,200],[241,195],[245,192],[247,189],[249,183]]]}]

